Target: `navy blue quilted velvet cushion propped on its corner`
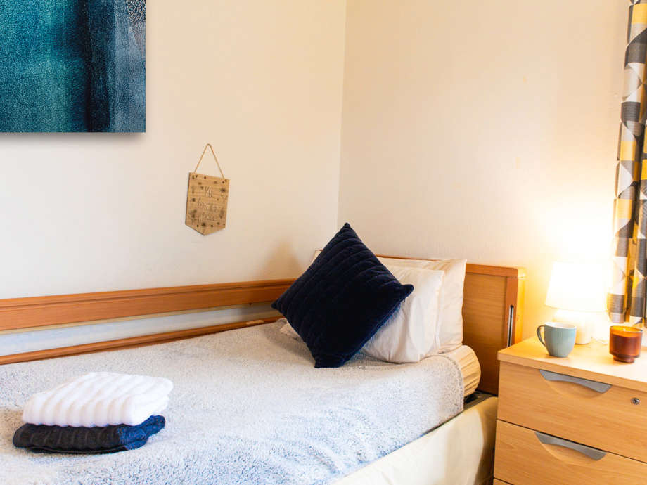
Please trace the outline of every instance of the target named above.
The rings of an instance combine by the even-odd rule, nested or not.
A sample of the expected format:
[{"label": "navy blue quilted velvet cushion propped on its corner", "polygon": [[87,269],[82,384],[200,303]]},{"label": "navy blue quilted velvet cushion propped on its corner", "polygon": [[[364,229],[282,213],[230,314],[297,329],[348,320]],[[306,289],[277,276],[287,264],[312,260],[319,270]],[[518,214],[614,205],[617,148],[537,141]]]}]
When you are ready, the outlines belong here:
[{"label": "navy blue quilted velvet cushion propped on its corner", "polygon": [[315,367],[339,367],[413,290],[400,284],[346,223],[272,308],[307,344]]}]

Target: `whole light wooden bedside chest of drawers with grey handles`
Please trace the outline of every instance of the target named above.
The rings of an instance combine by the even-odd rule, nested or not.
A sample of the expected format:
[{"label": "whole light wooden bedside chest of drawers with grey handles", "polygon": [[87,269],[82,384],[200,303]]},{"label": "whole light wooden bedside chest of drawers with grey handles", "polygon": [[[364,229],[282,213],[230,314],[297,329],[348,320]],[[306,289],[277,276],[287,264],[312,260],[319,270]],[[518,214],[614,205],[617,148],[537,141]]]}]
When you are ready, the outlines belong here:
[{"label": "whole light wooden bedside chest of drawers with grey handles", "polygon": [[647,484],[647,355],[594,341],[551,357],[533,337],[499,361],[494,483]]}]

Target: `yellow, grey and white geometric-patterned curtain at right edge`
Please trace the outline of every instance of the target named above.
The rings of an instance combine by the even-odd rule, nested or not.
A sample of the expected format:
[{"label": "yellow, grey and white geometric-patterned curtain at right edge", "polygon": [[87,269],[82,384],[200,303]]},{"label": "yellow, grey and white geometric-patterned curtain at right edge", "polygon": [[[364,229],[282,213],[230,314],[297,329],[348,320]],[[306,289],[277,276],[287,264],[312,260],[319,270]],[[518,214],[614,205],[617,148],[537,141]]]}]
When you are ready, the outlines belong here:
[{"label": "yellow, grey and white geometric-patterned curtain at right edge", "polygon": [[613,287],[608,308],[613,322],[644,325],[647,297],[646,121],[647,0],[629,6],[627,49],[613,228]]}]

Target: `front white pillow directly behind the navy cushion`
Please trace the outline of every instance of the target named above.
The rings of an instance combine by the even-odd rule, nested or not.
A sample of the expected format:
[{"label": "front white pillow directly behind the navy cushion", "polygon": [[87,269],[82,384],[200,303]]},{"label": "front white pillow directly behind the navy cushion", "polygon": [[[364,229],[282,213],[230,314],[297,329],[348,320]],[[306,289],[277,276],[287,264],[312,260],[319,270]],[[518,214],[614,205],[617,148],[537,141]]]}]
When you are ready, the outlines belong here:
[{"label": "front white pillow directly behind the navy cushion", "polygon": [[444,271],[404,266],[387,266],[387,269],[403,285],[414,285],[414,291],[361,351],[380,361],[394,363],[418,362],[436,354]]}]

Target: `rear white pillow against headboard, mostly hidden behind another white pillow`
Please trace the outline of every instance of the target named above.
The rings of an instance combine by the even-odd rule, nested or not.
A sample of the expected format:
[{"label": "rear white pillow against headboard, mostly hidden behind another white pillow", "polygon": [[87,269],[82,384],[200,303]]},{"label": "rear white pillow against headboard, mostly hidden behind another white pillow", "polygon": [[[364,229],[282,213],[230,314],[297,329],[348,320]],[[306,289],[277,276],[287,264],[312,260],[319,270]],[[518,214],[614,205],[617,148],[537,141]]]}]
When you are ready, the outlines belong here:
[{"label": "rear white pillow against headboard, mostly hidden behind another white pillow", "polygon": [[392,272],[392,266],[426,268],[444,271],[440,290],[440,321],[438,325],[438,352],[458,349],[463,344],[463,285],[465,284],[466,259],[378,258]]}]

